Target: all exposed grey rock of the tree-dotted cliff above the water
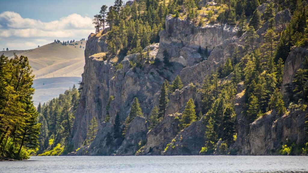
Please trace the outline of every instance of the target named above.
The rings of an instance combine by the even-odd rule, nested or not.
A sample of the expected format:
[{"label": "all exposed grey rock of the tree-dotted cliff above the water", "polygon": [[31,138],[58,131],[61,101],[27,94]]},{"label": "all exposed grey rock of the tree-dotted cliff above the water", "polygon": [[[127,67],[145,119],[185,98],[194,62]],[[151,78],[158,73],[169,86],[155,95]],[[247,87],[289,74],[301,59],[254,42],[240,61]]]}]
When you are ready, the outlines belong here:
[{"label": "all exposed grey rock of the tree-dotted cliff above the water", "polygon": [[[260,11],[263,9],[262,6],[258,8]],[[281,16],[284,22],[288,22],[290,11],[278,12],[276,23]],[[257,31],[259,43],[263,42],[267,27],[265,23]],[[245,34],[241,38],[235,35],[236,28],[232,26],[196,27],[189,21],[168,16],[166,30],[160,32],[160,43],[146,49],[150,49],[150,54],[160,60],[167,52],[171,66],[144,64],[143,67],[132,68],[130,61],[136,59],[136,54],[128,55],[121,61],[106,59],[105,36],[91,34],[85,50],[83,90],[71,138],[74,148],[81,148],[71,155],[198,155],[206,140],[203,119],[180,131],[179,117],[189,99],[194,100],[197,112],[201,110],[199,90],[206,74],[231,58],[235,48],[238,48],[240,57],[245,54]],[[199,46],[202,50],[209,50],[208,57],[198,53]],[[293,80],[295,71],[301,68],[303,57],[307,54],[305,48],[291,51],[284,67],[284,84]],[[116,70],[117,63],[122,63],[123,68]],[[170,94],[164,119],[148,131],[147,118],[154,105],[158,105],[162,83],[166,79],[171,82],[177,74],[184,88]],[[284,86],[282,88],[284,91]],[[111,95],[115,99],[109,108],[110,120],[104,122],[107,100]],[[306,140],[304,117],[307,112],[294,109],[286,115],[278,116],[275,111],[271,111],[249,124],[245,118],[244,95],[244,86],[240,83],[234,101],[237,115],[237,139],[231,147],[234,154],[270,155],[275,154],[282,143],[289,139],[296,143]],[[115,115],[120,115],[123,124],[134,97],[140,102],[144,118],[135,117],[127,128],[125,139],[114,139]],[[94,141],[89,146],[83,146],[92,117],[97,119],[99,130]]]}]

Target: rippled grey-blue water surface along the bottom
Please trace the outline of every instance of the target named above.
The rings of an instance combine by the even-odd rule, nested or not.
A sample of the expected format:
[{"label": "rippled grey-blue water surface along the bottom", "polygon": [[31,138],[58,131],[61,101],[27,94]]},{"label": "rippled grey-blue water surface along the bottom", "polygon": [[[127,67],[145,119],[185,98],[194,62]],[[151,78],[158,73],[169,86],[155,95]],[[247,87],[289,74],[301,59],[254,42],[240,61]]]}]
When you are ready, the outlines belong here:
[{"label": "rippled grey-blue water surface along the bottom", "polygon": [[40,156],[0,162],[1,173],[308,172],[307,156]]}]

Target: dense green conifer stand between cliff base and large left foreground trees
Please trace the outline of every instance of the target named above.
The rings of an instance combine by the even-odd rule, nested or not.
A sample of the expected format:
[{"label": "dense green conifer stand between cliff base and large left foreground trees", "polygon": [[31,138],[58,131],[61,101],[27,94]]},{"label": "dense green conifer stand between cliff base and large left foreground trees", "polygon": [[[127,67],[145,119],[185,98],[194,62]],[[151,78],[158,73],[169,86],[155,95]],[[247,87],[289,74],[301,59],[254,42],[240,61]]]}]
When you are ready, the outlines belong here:
[{"label": "dense green conifer stand between cliff base and large left foreground trees", "polygon": [[73,127],[74,114],[79,104],[79,94],[74,85],[71,89],[60,94],[59,97],[42,105],[39,114],[39,123],[42,124],[42,127],[37,154],[51,150],[58,143],[67,147],[66,144]]}]

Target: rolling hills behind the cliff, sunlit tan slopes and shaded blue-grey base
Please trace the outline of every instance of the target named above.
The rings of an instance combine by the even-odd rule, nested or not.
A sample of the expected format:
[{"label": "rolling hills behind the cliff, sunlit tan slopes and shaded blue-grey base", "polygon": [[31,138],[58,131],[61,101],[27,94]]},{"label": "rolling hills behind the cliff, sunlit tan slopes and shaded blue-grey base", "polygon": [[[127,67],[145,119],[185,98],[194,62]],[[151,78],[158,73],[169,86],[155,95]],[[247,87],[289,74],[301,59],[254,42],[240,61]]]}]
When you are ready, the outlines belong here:
[{"label": "rolling hills behind the cliff, sunlit tan slopes and shaded blue-grey base", "polygon": [[78,87],[85,63],[85,42],[76,41],[74,45],[66,46],[53,42],[30,50],[0,51],[0,54],[3,53],[9,58],[12,58],[14,53],[28,57],[35,75],[34,105],[38,105],[39,102],[47,102],[58,96],[74,84]]}]

